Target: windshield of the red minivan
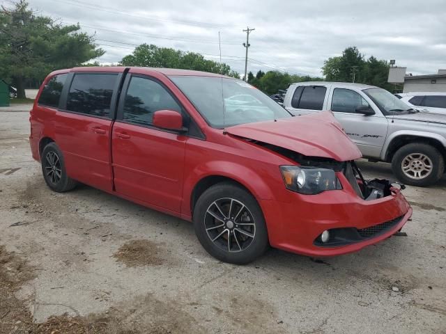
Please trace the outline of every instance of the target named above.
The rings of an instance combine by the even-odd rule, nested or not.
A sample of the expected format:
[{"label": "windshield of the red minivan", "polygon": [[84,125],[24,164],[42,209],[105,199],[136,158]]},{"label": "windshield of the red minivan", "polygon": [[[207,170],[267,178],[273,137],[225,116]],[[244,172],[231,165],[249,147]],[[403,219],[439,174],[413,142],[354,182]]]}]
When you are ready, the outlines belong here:
[{"label": "windshield of the red minivan", "polygon": [[257,88],[238,79],[170,77],[211,127],[223,129],[263,120],[292,117]]}]

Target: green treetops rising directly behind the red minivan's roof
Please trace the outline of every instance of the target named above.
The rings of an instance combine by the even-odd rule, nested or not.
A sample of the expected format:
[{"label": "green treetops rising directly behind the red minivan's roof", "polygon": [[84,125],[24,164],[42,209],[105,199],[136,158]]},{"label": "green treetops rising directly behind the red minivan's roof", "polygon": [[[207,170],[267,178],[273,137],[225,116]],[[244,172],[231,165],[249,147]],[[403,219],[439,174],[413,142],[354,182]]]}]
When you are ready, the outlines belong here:
[{"label": "green treetops rising directly behind the red minivan's roof", "polygon": [[121,64],[124,66],[148,66],[180,68],[183,70],[197,70],[211,73],[240,77],[236,71],[225,63],[217,63],[204,58],[195,52],[184,52],[169,47],[157,47],[156,45],[141,44],[132,54],[125,56]]}]

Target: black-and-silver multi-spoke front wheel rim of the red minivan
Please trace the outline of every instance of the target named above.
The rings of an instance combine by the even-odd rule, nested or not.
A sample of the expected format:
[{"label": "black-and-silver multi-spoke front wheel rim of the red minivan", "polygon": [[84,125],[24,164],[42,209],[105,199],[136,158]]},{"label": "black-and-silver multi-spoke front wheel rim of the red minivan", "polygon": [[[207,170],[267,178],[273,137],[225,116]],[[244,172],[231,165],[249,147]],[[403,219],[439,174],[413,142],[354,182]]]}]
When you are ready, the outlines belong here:
[{"label": "black-and-silver multi-spoke front wheel rim of the red minivan", "polygon": [[204,216],[204,226],[210,241],[228,252],[240,252],[252,244],[256,224],[249,209],[234,198],[212,202]]}]

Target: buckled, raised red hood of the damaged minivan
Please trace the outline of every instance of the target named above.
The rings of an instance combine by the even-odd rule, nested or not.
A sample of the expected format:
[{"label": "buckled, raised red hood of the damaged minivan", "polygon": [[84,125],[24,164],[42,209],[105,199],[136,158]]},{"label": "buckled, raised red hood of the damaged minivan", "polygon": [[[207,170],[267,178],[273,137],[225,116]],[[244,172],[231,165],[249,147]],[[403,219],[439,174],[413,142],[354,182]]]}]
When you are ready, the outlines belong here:
[{"label": "buckled, raised red hood of the damaged minivan", "polygon": [[307,157],[325,157],[337,161],[362,157],[360,150],[330,111],[236,125],[227,127],[225,132],[286,148]]}]

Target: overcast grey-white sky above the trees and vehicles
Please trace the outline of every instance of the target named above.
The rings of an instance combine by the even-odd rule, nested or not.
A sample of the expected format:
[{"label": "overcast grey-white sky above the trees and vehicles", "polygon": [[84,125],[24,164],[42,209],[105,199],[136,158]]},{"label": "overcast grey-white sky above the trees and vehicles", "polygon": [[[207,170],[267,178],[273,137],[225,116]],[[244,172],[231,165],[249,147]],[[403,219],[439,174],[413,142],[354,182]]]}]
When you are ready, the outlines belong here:
[{"label": "overcast grey-white sky above the trees and vehicles", "polygon": [[[2,1],[3,2],[3,1]],[[63,23],[79,22],[95,33],[116,63],[135,45],[151,43],[196,51],[217,60],[222,55],[244,71],[246,34],[248,70],[284,70],[321,76],[323,61],[357,46],[365,56],[396,59],[413,74],[446,68],[446,1],[255,1],[255,0],[29,0],[40,13]]]}]

